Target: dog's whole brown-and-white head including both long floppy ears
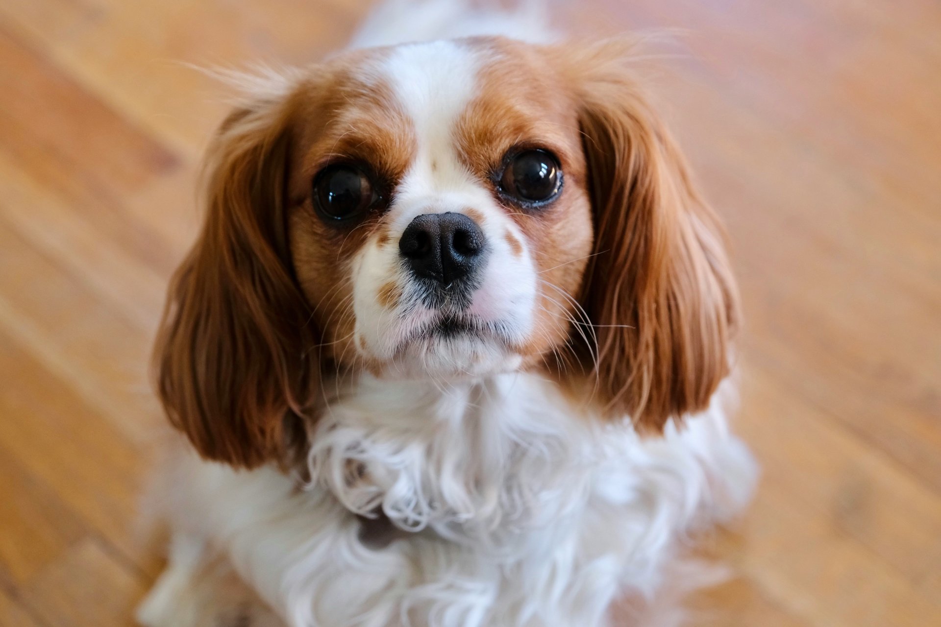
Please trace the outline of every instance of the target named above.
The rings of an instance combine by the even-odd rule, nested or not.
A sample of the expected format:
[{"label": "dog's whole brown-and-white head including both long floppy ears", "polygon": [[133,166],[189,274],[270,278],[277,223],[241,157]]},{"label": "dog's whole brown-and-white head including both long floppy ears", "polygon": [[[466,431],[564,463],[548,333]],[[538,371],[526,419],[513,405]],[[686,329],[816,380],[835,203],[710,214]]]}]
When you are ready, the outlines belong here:
[{"label": "dog's whole brown-and-white head including both long floppy ears", "polygon": [[659,430],[728,370],[720,229],[630,44],[465,39],[260,83],[207,158],[159,392],[206,457],[277,459],[327,373],[540,370]]}]

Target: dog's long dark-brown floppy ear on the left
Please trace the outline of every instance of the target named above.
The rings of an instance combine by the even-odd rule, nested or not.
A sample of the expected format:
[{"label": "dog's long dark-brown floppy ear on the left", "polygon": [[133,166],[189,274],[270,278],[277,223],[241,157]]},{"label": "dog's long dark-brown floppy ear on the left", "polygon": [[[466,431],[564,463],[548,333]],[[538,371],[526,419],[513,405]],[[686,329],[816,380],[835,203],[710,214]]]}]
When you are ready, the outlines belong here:
[{"label": "dog's long dark-brown floppy ear on the left", "polygon": [[154,360],[170,422],[206,458],[279,460],[319,366],[288,252],[286,96],[234,111],[205,163],[206,216],[169,287]]}]

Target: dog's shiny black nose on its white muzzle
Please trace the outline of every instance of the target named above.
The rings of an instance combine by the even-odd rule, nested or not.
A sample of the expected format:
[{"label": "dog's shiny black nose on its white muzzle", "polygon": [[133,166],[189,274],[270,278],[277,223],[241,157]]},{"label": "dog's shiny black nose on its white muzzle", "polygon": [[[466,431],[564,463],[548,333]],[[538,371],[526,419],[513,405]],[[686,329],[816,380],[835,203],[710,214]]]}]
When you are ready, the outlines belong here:
[{"label": "dog's shiny black nose on its white muzzle", "polygon": [[399,251],[416,276],[447,287],[480,264],[484,244],[484,231],[463,213],[425,213],[408,225]]}]

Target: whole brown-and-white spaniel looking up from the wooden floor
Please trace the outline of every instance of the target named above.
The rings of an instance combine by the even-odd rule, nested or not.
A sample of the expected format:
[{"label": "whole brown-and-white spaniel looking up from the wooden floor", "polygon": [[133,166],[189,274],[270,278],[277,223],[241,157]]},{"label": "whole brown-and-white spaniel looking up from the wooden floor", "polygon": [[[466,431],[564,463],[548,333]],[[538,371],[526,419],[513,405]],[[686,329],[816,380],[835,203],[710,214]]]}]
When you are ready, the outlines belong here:
[{"label": "whole brown-and-white spaniel looking up from the wooden floor", "polygon": [[402,5],[208,149],[144,625],[647,625],[751,494],[722,229],[631,40]]}]

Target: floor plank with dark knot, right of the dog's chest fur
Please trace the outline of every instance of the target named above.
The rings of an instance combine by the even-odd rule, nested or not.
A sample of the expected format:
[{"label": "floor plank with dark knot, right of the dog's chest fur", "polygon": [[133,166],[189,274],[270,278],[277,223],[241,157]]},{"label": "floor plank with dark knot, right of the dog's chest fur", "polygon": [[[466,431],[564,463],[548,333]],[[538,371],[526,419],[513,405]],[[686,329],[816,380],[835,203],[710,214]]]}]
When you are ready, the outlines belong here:
[{"label": "floor plank with dark knot, right of the dog's chest fur", "polygon": [[762,487],[866,546],[913,586],[937,572],[941,499],[773,375],[750,372],[737,429],[763,462]]}]

